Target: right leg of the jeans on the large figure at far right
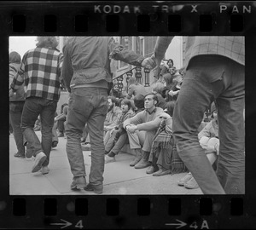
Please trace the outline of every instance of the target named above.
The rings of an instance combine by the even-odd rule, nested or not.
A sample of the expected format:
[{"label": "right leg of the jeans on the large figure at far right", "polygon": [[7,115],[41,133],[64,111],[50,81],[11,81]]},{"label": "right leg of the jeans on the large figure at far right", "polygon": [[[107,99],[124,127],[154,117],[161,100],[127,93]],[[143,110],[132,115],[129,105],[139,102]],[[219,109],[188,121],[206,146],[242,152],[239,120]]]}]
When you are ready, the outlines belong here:
[{"label": "right leg of the jeans on the large figure at far right", "polygon": [[230,61],[227,85],[218,97],[217,175],[227,194],[245,193],[244,66]]}]

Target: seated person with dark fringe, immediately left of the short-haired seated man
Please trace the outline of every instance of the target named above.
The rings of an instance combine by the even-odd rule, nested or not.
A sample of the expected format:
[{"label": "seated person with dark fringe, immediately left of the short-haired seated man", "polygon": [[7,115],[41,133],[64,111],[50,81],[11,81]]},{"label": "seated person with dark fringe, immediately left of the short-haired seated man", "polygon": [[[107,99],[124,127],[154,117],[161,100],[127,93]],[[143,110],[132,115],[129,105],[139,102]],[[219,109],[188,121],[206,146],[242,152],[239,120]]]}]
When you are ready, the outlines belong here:
[{"label": "seated person with dark fringe, immediately left of the short-haired seated man", "polygon": [[127,140],[127,134],[123,127],[123,123],[126,119],[134,116],[130,100],[123,100],[121,102],[121,109],[122,116],[119,118],[114,128],[112,129],[112,135],[105,145],[105,154],[108,154],[105,157],[105,164],[115,161],[115,155],[117,155],[122,147],[124,147]]}]

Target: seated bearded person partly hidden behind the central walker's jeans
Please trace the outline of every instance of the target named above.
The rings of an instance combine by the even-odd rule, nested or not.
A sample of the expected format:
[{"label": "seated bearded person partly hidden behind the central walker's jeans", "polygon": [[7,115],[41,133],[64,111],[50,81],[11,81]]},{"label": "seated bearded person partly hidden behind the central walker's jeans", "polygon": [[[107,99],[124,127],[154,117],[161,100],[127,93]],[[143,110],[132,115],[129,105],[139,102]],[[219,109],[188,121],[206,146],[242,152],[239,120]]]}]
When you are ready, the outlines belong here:
[{"label": "seated bearded person partly hidden behind the central walker's jeans", "polygon": [[117,99],[114,96],[108,96],[108,113],[104,122],[104,144],[106,145],[110,138],[110,131],[114,128],[114,122],[122,115],[122,110],[117,106]]}]

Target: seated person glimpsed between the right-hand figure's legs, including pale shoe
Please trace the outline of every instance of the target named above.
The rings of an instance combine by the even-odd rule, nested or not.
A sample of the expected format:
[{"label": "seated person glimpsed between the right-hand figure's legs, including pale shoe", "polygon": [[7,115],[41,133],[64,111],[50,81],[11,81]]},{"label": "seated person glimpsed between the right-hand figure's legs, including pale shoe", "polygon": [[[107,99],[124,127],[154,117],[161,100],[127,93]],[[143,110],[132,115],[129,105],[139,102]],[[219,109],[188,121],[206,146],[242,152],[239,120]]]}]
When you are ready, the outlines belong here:
[{"label": "seated person glimpsed between the right-hand figure's legs, including pale shoe", "polygon": [[[205,126],[198,134],[198,139],[201,147],[205,150],[207,158],[211,164],[214,164],[219,154],[219,140],[218,140],[218,118],[217,111],[212,111],[212,121]],[[181,180],[177,182],[179,186],[186,188],[198,188],[193,175],[189,172]]]}]

